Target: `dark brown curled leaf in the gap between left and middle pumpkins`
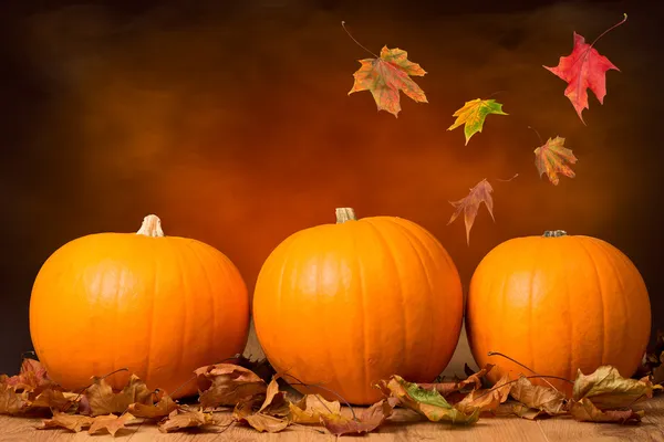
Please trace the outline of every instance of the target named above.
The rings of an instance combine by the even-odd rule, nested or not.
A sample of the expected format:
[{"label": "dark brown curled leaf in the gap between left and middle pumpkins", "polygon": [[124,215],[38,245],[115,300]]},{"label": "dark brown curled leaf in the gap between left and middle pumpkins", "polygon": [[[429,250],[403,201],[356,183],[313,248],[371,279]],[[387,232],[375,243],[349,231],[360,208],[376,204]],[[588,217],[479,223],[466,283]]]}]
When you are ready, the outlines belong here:
[{"label": "dark brown curled leaf in the gap between left and middle pumpkins", "polygon": [[217,364],[195,370],[200,406],[204,409],[235,406],[256,394],[264,394],[266,382],[253,371],[232,364]]}]

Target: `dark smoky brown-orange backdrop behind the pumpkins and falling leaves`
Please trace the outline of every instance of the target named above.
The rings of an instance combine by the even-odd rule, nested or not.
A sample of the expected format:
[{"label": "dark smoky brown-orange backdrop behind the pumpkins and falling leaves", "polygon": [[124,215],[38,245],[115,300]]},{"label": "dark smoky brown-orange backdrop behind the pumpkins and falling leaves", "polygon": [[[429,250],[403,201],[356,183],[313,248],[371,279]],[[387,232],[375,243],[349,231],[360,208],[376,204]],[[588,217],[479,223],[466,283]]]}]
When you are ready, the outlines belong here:
[{"label": "dark smoky brown-orange backdrop behind the pumpkins and falling leaves", "polygon": [[[656,2],[646,2],[656,3]],[[0,372],[32,348],[28,305],[43,261],[74,238],[136,231],[156,213],[167,234],[205,241],[249,288],[295,230],[360,217],[430,230],[465,287],[479,260],[518,235],[564,229],[625,252],[664,328],[662,8],[636,1],[37,1],[4,0],[0,29]],[[660,8],[660,10],[655,9]],[[479,12],[478,12],[479,11]],[[541,67],[629,13],[596,49],[622,72],[591,94],[583,126],[566,83]],[[365,46],[408,51],[429,104],[402,95],[376,112],[347,96]],[[465,101],[494,96],[464,146],[447,131]],[[558,187],[538,177],[536,127],[579,158]],[[511,182],[495,181],[519,177]],[[466,245],[449,200],[494,183]],[[63,317],[76,320],[75,317]]]}]

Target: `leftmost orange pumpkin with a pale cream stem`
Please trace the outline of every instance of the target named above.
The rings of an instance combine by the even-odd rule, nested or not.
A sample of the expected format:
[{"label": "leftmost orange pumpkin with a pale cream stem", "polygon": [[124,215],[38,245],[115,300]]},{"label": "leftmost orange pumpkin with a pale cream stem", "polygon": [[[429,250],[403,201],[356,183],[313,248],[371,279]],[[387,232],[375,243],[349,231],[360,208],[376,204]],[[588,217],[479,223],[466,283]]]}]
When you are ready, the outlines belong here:
[{"label": "leftmost orange pumpkin with a pale cream stem", "polygon": [[203,242],[165,236],[147,215],[137,233],[96,233],[56,250],[30,298],[30,333],[49,376],[70,390],[121,368],[175,398],[194,370],[241,352],[250,302],[237,267]]}]

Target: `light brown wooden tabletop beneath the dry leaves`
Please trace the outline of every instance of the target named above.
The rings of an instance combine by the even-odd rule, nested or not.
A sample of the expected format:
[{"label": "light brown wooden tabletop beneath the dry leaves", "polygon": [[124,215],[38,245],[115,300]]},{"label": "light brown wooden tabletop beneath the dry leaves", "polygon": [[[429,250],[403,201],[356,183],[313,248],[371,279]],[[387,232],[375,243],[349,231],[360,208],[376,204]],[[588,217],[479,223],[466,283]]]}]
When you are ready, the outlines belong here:
[{"label": "light brown wooden tabletop beneath the dry leaves", "polygon": [[[371,441],[501,441],[501,442],[540,442],[540,441],[664,441],[664,394],[641,402],[634,407],[645,411],[640,424],[620,425],[614,423],[577,422],[567,418],[551,418],[530,421],[517,417],[483,418],[470,427],[458,427],[448,423],[419,421],[408,410],[397,409],[376,432],[364,436],[341,436],[341,440]],[[230,419],[230,413],[228,413]],[[39,419],[0,417],[0,442],[51,442],[51,441],[106,441],[113,440],[110,434],[89,435],[85,431],[72,433],[66,430],[37,430]],[[317,431],[320,430],[320,431]],[[154,424],[129,424],[128,430],[116,433],[115,440],[123,442],[208,442],[208,441],[334,441],[336,436],[324,431],[322,427],[290,428],[280,433],[259,433],[248,428],[234,425],[221,432],[219,430],[162,433]]]}]

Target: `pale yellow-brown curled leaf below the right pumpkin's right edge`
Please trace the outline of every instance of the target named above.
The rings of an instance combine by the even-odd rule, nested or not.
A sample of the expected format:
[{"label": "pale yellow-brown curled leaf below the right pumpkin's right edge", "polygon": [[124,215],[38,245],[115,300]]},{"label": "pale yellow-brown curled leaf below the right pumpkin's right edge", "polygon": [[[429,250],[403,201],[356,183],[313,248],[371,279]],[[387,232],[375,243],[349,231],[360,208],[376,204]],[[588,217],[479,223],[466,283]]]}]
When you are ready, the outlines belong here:
[{"label": "pale yellow-brown curled leaf below the right pumpkin's right edge", "polygon": [[577,373],[572,397],[574,401],[590,399],[599,409],[630,407],[639,399],[651,398],[650,381],[623,378],[616,368],[602,366],[591,375]]}]

